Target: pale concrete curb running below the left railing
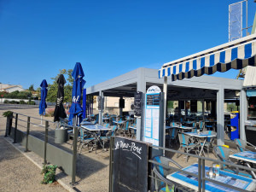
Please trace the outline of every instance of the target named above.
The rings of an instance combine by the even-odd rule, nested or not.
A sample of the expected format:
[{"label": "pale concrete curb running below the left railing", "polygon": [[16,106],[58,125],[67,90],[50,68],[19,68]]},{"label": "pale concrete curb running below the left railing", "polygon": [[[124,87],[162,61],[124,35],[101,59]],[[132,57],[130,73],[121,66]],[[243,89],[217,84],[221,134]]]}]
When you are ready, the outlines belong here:
[{"label": "pale concrete curb running below the left railing", "polygon": [[[24,152],[24,148],[20,145],[20,143],[13,143],[11,141],[11,139],[9,137],[3,137],[3,139],[5,141],[7,141],[10,145],[12,145],[16,150],[18,150],[21,154],[23,154],[28,160],[32,161],[32,163],[35,165],[35,166],[38,166],[39,169],[43,169],[43,164],[40,165],[38,164],[38,162],[36,162],[36,160],[33,160],[29,155],[27,155],[25,152]],[[31,152],[33,153],[33,152]],[[43,162],[43,160],[42,160]],[[56,170],[58,174],[65,174],[64,172],[61,172],[60,169],[57,169]],[[62,181],[62,179],[58,178],[58,177],[61,177],[61,176],[56,176],[55,180],[61,184],[61,186],[64,188],[64,189],[67,189],[68,191],[70,192],[77,192],[77,190],[73,189],[73,187],[71,187],[70,185],[68,185],[67,183],[64,183]]]}]

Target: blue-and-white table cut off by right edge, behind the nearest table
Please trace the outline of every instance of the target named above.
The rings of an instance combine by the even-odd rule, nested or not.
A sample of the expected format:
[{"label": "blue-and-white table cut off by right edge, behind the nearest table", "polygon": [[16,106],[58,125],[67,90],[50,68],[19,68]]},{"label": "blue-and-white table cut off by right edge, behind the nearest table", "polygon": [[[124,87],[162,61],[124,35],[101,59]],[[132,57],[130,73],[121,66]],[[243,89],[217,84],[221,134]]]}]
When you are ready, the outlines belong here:
[{"label": "blue-and-white table cut off by right edge, behind the nearest table", "polygon": [[[237,154],[231,154],[230,158],[245,162],[249,168],[251,168],[250,163],[256,164],[256,152],[253,151],[243,151]],[[256,178],[255,172],[251,171],[251,173],[253,178]]]}]

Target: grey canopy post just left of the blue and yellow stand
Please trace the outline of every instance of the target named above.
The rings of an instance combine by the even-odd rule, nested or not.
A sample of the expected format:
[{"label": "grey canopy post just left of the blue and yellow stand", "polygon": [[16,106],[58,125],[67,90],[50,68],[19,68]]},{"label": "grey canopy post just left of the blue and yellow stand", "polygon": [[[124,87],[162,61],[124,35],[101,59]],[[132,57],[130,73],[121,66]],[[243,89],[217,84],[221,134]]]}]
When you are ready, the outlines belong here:
[{"label": "grey canopy post just left of the blue and yellow stand", "polygon": [[224,88],[217,92],[217,144],[224,145]]}]

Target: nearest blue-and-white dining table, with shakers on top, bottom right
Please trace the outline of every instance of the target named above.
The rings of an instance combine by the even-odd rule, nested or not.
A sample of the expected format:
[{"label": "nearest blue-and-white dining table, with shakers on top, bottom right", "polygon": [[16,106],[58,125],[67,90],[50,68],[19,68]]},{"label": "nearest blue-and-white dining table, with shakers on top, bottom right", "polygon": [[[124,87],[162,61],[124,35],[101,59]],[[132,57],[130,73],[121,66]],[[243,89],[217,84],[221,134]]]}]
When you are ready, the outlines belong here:
[{"label": "nearest blue-and-white dining table, with shakers on top, bottom right", "polygon": [[[207,172],[209,172],[210,167],[205,166],[205,176],[207,176]],[[183,171],[194,173],[195,175],[198,175],[198,164],[194,164],[192,166],[188,166],[183,168]],[[179,183],[183,186],[189,187],[190,189],[194,189],[195,191],[198,191],[198,178],[195,176],[191,176],[189,174],[183,173],[183,172],[174,172],[170,175],[166,176],[167,179]],[[224,172],[222,170],[219,171],[219,176],[216,176],[215,178],[212,178],[212,180],[218,181],[220,183],[225,183],[227,185],[231,185],[233,187],[237,187],[240,189],[244,189],[247,191],[254,191],[256,188],[256,180],[248,177],[242,177],[240,175],[237,175],[235,173],[230,172]],[[235,192],[237,190],[230,189],[227,187],[224,187],[222,185],[218,185],[217,183],[212,183],[209,181],[206,181],[205,189],[207,192],[210,191],[218,191],[218,192]]]}]

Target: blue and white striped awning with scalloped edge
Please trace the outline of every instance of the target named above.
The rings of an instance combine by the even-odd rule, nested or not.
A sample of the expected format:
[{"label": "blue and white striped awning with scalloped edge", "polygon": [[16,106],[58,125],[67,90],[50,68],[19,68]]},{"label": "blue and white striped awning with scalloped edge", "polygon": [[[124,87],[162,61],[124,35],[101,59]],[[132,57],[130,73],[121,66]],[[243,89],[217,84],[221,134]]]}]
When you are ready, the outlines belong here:
[{"label": "blue and white striped awning with scalloped edge", "polygon": [[159,70],[159,78],[172,76],[172,81],[200,77],[203,74],[226,72],[256,66],[256,34],[222,44],[212,49],[168,62]]}]

